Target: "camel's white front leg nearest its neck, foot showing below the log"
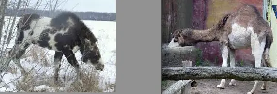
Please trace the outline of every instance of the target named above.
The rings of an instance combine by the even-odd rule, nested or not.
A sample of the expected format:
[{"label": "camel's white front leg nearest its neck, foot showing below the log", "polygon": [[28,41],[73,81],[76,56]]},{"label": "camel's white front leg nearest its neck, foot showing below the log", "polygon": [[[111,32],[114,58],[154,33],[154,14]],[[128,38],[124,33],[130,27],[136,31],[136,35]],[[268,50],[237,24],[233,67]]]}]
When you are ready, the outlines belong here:
[{"label": "camel's white front leg nearest its neck, foot showing below the log", "polygon": [[[219,39],[219,42],[220,42],[220,50],[221,50],[221,54],[222,54],[222,67],[227,67],[227,58],[228,58],[228,36],[227,34],[223,35],[220,39]],[[225,85],[225,79],[222,79],[220,81],[220,84],[217,85],[216,87],[217,88],[222,88],[224,89]]]}]

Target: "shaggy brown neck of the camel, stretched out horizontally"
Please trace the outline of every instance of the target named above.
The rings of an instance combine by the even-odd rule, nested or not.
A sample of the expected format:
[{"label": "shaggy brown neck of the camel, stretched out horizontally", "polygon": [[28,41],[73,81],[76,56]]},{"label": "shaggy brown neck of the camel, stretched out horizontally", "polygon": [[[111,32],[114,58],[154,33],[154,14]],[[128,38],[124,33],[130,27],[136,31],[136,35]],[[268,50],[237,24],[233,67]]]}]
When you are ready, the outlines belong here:
[{"label": "shaggy brown neck of the camel, stretched out horizontally", "polygon": [[212,27],[206,30],[193,30],[192,38],[197,42],[212,42],[218,41],[217,27]]}]

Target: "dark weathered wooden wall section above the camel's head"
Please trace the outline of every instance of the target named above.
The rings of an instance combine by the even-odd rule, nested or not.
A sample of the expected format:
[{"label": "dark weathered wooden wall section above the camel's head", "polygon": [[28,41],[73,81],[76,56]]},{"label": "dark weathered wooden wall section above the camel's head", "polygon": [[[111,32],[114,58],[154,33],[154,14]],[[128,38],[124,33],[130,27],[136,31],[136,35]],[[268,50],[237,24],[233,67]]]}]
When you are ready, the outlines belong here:
[{"label": "dark weathered wooden wall section above the camel's head", "polygon": [[192,0],[162,0],[162,43],[169,43],[171,32],[192,26]]}]

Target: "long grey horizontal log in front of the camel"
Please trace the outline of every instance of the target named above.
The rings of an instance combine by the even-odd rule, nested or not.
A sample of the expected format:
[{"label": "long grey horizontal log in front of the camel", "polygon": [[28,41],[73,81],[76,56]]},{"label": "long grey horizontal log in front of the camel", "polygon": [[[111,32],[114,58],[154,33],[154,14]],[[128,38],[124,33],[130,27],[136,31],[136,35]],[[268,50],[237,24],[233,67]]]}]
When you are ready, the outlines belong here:
[{"label": "long grey horizontal log in front of the camel", "polygon": [[165,67],[163,80],[236,79],[277,82],[277,68],[270,67]]}]

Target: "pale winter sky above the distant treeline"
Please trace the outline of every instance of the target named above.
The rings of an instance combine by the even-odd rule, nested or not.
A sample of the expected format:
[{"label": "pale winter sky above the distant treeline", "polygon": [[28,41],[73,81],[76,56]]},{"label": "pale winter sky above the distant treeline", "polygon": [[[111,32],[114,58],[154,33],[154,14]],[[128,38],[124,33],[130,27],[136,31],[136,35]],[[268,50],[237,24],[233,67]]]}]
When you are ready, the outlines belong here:
[{"label": "pale winter sky above the distant treeline", "polygon": [[[31,0],[30,4],[35,5],[37,1],[42,1],[41,4],[46,4],[49,0]],[[56,0],[54,0],[56,1]],[[116,13],[116,0],[59,0],[65,1],[58,9],[67,11],[81,11],[81,12],[105,12]],[[39,9],[43,9],[40,6]]]}]

